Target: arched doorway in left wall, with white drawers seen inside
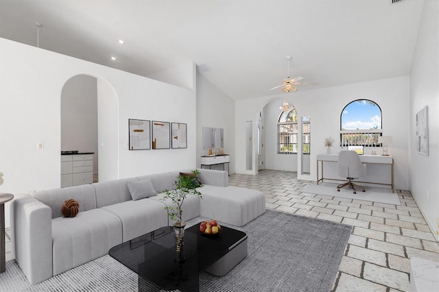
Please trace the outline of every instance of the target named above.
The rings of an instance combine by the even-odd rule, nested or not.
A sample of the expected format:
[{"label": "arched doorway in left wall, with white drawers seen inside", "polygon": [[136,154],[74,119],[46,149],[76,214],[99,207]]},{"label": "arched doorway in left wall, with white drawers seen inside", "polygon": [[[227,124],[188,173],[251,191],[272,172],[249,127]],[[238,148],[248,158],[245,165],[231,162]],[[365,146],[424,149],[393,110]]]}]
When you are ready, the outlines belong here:
[{"label": "arched doorway in left wall, with white drawers seen inside", "polygon": [[75,75],[62,88],[61,150],[93,153],[93,182],[119,176],[118,104],[115,90],[100,77]]}]

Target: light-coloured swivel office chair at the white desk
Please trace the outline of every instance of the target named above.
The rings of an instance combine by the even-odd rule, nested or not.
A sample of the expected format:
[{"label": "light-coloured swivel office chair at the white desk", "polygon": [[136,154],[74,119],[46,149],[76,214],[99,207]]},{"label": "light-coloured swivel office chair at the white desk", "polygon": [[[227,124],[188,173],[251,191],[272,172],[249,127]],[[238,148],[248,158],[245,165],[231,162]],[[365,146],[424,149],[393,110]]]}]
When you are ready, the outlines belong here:
[{"label": "light-coloured swivel office chair at the white desk", "polygon": [[357,193],[355,191],[355,186],[363,188],[363,192],[366,191],[364,189],[364,186],[359,186],[351,182],[352,180],[362,178],[364,177],[364,175],[366,175],[366,165],[361,163],[357,152],[340,151],[340,154],[338,154],[337,170],[338,175],[348,180],[348,182],[345,182],[344,184],[339,184],[337,186],[337,192],[340,192],[340,188],[344,186],[349,186],[349,188],[353,188],[355,194]]}]

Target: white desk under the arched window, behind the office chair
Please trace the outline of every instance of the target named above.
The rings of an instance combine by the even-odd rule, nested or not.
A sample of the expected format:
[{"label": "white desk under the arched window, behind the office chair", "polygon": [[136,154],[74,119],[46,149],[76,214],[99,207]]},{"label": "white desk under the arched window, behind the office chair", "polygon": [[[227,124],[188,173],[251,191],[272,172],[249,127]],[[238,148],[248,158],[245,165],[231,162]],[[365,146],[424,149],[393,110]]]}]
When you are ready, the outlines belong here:
[{"label": "white desk under the arched window, behind the office chair", "polygon": [[[355,180],[356,182],[390,186],[393,191],[392,156],[360,155],[359,160],[367,165],[366,176],[361,181]],[[346,178],[337,175],[337,161],[338,154],[318,154],[317,184],[323,180],[346,181]]]}]

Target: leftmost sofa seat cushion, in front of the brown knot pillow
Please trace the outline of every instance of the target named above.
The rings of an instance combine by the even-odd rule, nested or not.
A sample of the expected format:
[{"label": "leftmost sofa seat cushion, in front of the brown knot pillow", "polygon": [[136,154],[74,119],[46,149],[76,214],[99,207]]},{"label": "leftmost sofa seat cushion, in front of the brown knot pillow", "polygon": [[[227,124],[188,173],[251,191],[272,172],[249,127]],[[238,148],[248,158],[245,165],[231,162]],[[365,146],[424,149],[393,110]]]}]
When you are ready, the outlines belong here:
[{"label": "leftmost sofa seat cushion, in front of the brown knot pillow", "polygon": [[74,218],[52,220],[54,275],[108,254],[122,243],[120,219],[102,209],[80,212]]}]

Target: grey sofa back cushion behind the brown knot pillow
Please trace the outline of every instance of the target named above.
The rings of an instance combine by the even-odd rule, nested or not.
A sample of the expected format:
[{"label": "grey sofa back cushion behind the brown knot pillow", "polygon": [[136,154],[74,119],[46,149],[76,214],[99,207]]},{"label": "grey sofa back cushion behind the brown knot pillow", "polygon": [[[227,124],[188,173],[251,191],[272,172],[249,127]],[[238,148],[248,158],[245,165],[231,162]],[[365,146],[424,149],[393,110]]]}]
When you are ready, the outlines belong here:
[{"label": "grey sofa back cushion behind the brown knot pillow", "polygon": [[38,201],[49,206],[52,210],[52,219],[62,217],[61,208],[64,201],[74,199],[80,204],[80,212],[96,208],[95,188],[91,184],[55,188],[53,190],[38,191],[31,194]]}]

